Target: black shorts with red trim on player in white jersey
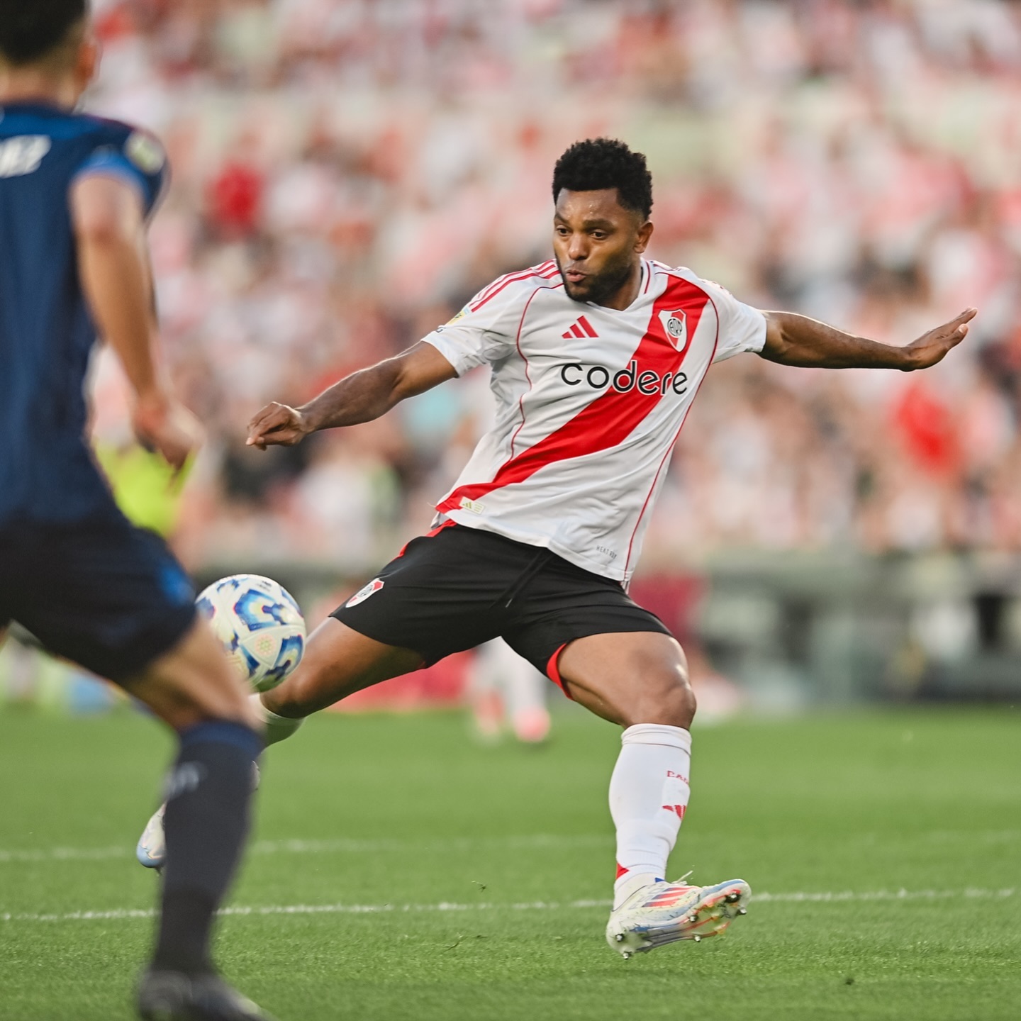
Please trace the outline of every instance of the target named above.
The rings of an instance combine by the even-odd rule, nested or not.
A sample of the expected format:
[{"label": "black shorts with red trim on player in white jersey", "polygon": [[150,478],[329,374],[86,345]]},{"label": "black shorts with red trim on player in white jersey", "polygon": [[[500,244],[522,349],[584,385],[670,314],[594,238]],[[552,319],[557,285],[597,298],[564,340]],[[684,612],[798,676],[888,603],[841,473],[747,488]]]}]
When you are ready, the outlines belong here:
[{"label": "black shorts with red trim on player in white jersey", "polygon": [[670,630],[619,582],[548,549],[448,522],[412,539],[331,615],[431,666],[502,637],[557,684],[556,657],[576,638]]}]

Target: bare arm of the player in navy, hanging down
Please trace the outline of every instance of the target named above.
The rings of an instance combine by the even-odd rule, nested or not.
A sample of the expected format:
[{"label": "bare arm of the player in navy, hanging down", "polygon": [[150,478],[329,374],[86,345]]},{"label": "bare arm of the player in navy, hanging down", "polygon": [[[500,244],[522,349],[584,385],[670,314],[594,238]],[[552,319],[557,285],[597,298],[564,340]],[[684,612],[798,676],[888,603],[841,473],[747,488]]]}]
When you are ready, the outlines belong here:
[{"label": "bare arm of the player in navy, hanging down", "polygon": [[90,175],[69,199],[82,287],[135,390],[135,433],[180,469],[201,443],[202,427],[160,372],[141,196],[117,178]]}]

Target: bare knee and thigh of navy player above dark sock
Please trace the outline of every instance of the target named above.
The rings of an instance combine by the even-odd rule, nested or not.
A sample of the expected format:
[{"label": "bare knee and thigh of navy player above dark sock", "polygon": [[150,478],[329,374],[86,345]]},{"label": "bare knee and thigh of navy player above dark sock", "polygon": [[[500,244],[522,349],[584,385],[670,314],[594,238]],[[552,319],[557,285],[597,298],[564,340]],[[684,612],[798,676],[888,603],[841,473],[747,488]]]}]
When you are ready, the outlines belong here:
[{"label": "bare knee and thigh of navy player above dark sock", "polygon": [[205,720],[261,726],[247,687],[200,617],[169,651],[120,683],[175,730]]}]

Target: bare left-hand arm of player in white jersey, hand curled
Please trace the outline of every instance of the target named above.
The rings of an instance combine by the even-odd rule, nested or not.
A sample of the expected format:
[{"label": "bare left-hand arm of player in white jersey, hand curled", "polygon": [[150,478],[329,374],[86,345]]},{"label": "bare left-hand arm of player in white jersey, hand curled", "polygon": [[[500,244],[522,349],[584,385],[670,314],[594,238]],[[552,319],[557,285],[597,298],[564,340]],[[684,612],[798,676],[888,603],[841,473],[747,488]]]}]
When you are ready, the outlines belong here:
[{"label": "bare left-hand arm of player in white jersey, hand curled", "polygon": [[264,450],[293,446],[309,433],[356,426],[385,415],[394,404],[431,390],[457,374],[432,344],[414,347],[369,369],[346,376],[301,407],[274,401],[248,423],[248,445]]}]

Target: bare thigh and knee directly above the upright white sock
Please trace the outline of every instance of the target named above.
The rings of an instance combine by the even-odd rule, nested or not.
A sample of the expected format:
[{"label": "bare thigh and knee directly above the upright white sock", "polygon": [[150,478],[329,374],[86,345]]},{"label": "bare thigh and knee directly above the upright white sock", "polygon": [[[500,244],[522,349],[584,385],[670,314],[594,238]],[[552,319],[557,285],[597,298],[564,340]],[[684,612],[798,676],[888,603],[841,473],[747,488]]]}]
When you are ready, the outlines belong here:
[{"label": "bare thigh and knee directly above the upright white sock", "polygon": [[676,638],[659,631],[587,635],[558,657],[565,691],[613,723],[688,727],[695,700]]}]

